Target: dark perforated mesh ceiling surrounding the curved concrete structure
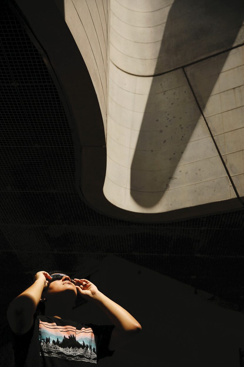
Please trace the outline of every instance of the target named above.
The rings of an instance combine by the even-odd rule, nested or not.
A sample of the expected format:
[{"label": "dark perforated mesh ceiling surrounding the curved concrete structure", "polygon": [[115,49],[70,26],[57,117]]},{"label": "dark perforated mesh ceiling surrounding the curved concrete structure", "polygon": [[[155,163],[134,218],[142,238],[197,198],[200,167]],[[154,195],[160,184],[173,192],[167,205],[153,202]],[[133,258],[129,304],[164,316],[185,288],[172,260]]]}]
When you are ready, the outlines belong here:
[{"label": "dark perforated mesh ceiling surrounding the curved concrete structure", "polygon": [[75,189],[74,143],[55,84],[4,1],[0,14],[3,271],[11,279],[12,261],[22,273],[42,264],[72,273],[84,254],[113,253],[242,305],[243,211],[136,224],[89,208]]}]

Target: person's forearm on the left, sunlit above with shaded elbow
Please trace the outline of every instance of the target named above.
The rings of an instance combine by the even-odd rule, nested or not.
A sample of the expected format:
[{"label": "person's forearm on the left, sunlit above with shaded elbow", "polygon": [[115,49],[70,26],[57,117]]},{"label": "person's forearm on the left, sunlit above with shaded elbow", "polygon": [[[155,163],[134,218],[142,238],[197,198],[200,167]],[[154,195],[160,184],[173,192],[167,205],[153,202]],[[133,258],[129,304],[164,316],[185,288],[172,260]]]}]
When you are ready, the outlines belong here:
[{"label": "person's forearm on the left, sunlit above with shaded elbow", "polygon": [[9,310],[26,311],[34,315],[35,310],[40,302],[41,294],[44,289],[44,282],[41,279],[35,282],[19,294],[9,305]]}]

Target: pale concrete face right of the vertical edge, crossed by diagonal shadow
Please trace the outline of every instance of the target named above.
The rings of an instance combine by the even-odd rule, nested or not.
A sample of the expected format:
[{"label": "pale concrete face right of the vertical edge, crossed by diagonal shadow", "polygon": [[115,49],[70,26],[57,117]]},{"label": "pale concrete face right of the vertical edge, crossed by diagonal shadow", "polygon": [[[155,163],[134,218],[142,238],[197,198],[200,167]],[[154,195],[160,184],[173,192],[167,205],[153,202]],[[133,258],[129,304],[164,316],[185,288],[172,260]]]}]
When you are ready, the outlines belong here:
[{"label": "pale concrete face right of the vertical edge, crossed by diagonal shadow", "polygon": [[[114,205],[158,213],[236,197],[210,131],[214,121],[216,129],[223,119],[232,125],[228,133],[224,127],[211,131],[229,168],[228,154],[240,155],[243,148],[242,130],[233,127],[242,126],[243,117],[237,110],[231,117],[221,114],[244,104],[241,47],[186,67],[188,80],[184,72],[188,63],[244,40],[243,6],[239,1],[219,6],[218,1],[110,2],[104,195]],[[233,88],[239,88],[238,102]],[[233,181],[243,196],[243,158],[236,162],[236,157],[230,175],[238,171]]]}]

